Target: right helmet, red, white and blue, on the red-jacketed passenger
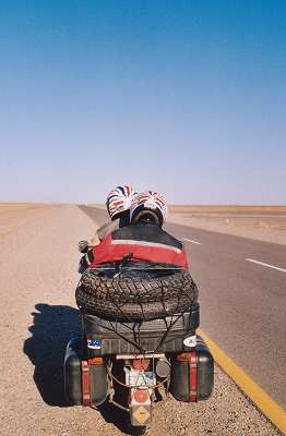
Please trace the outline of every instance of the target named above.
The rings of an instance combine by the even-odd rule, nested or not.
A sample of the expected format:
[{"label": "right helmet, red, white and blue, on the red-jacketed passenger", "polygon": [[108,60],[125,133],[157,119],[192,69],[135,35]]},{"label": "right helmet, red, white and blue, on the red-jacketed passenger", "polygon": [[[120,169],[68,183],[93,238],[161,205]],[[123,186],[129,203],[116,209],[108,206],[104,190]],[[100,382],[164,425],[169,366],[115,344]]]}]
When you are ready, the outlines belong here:
[{"label": "right helmet, red, white and blue, on the red-jacketed passenger", "polygon": [[[133,196],[130,207],[130,221],[134,222],[139,216],[148,211],[155,216],[162,226],[167,217],[167,203],[163,195],[155,191],[146,191]],[[143,214],[144,213],[144,214]]]}]

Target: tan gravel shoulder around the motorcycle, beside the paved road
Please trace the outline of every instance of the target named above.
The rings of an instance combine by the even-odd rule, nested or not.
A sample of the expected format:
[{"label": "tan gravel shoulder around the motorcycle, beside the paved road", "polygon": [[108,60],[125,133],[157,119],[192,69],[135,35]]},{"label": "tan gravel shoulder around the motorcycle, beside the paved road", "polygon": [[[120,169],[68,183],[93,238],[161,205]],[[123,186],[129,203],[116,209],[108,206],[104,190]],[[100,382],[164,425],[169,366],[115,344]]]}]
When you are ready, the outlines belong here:
[{"label": "tan gravel shoulder around the motorcycle, beside the paved road", "polygon": [[[95,223],[76,206],[60,206],[16,229],[0,238],[2,434],[122,435],[112,409],[67,407],[63,398],[64,348],[80,332],[76,243],[92,239]],[[211,400],[155,407],[148,435],[191,434],[279,435],[219,367]]]}]

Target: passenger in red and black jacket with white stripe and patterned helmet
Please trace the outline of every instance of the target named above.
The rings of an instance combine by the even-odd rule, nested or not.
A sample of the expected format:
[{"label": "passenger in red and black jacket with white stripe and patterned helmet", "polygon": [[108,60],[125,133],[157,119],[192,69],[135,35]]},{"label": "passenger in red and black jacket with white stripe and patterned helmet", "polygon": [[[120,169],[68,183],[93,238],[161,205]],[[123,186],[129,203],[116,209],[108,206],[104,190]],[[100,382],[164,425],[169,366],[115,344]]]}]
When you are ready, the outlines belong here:
[{"label": "passenger in red and black jacket with white stripe and patterned helmet", "polygon": [[120,227],[106,234],[103,241],[88,252],[88,267],[129,258],[188,269],[183,244],[162,228],[166,215],[166,201],[157,192],[147,191],[134,195],[130,208],[130,226]]}]

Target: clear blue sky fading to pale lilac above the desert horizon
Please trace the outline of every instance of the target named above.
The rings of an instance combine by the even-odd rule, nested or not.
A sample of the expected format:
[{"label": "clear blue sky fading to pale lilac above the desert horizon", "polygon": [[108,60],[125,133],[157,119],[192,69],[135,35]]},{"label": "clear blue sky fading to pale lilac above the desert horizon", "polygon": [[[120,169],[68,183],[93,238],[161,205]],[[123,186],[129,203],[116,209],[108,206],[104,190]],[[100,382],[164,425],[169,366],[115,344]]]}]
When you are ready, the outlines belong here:
[{"label": "clear blue sky fading to pale lilac above the desert horizon", "polygon": [[286,2],[0,5],[0,201],[286,204]]}]

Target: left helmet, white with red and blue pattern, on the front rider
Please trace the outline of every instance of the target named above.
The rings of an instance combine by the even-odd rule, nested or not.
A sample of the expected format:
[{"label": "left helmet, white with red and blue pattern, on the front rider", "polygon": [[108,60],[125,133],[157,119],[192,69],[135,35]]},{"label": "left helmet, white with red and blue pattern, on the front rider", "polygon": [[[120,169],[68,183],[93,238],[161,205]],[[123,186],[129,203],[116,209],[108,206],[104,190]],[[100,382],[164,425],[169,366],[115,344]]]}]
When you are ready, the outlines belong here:
[{"label": "left helmet, white with red and blue pattern, on the front rider", "polygon": [[106,199],[106,207],[111,219],[117,218],[118,214],[129,210],[134,190],[130,184],[117,186],[109,192]]}]

